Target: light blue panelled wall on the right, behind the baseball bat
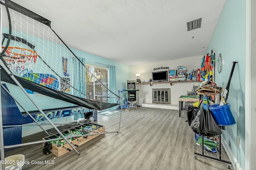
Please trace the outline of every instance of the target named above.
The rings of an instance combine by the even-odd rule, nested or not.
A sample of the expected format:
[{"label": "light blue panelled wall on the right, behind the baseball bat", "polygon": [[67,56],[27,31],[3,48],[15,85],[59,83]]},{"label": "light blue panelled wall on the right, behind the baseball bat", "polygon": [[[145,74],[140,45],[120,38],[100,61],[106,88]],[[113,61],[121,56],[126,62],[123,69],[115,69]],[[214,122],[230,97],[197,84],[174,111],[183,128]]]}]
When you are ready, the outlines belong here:
[{"label": "light blue panelled wall on the right, behind the baseball bat", "polygon": [[[232,61],[238,62],[228,96],[236,124],[226,126],[222,136],[242,169],[245,168],[245,14],[244,0],[227,0],[207,49],[210,51],[215,47],[216,59],[220,53],[223,57],[222,72],[219,74],[216,71],[215,75],[218,86],[225,88]],[[238,147],[238,137],[242,139],[241,149]]]}]

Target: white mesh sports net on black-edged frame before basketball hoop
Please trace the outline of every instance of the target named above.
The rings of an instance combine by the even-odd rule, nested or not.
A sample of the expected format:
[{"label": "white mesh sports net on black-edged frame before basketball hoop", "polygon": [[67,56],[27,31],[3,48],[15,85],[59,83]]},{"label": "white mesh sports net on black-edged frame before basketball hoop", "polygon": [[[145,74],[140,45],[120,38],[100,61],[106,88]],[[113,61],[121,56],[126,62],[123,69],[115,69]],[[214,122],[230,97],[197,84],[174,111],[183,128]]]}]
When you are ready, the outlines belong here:
[{"label": "white mesh sports net on black-edged frame before basketball hoop", "polygon": [[118,96],[108,89],[108,76],[104,83],[100,81],[107,68],[86,66],[85,59],[76,57],[50,24],[8,10],[12,33],[3,29],[2,51],[7,49],[2,57],[15,76],[79,98],[118,103]]}]

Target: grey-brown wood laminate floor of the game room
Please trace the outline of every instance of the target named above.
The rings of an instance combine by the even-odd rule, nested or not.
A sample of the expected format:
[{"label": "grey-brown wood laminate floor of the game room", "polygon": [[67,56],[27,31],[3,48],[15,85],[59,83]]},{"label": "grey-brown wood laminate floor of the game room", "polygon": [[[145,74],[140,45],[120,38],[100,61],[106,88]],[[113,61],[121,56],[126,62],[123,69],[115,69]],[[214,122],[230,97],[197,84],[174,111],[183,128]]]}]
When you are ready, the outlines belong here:
[{"label": "grey-brown wood laminate floor of the game room", "polygon": [[[122,110],[118,133],[96,137],[92,141],[60,157],[43,154],[42,144],[20,147],[5,156],[24,154],[32,162],[54,160],[54,164],[25,164],[24,170],[228,170],[224,162],[197,156],[202,147],[196,145],[194,132],[178,110],[136,107],[134,111]],[[120,112],[99,115],[99,125],[106,131],[117,131]],[[59,127],[62,131],[64,127]],[[24,137],[22,142],[38,141],[44,132]],[[205,152],[218,158],[218,154]],[[222,147],[222,159],[230,161]],[[233,168],[233,167],[231,167]]]}]

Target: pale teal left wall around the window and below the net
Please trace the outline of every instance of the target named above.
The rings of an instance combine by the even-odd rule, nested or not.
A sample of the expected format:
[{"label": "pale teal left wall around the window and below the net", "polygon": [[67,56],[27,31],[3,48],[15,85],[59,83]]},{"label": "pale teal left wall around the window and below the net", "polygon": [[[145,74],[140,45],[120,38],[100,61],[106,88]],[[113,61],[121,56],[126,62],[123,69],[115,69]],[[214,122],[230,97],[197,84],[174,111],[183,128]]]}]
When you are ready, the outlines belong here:
[{"label": "pale teal left wall around the window and below the net", "polygon": [[[3,27],[2,31],[3,33],[8,33],[8,28]],[[33,37],[30,37],[30,38],[33,39]],[[36,47],[40,47],[40,45],[36,44]],[[114,93],[118,95],[118,90],[122,90],[126,88],[126,82],[127,80],[130,80],[130,66],[126,64],[121,64],[115,61],[111,61],[109,59],[99,57],[97,55],[92,55],[90,53],[79,51],[77,49],[71,49],[71,50],[74,52],[74,54],[77,57],[85,58],[86,63],[88,64],[94,64],[94,65],[103,66],[106,68],[108,67],[108,65],[116,66],[116,90],[114,91]],[[59,61],[58,63],[61,63],[61,61]],[[53,68],[53,69],[62,70],[62,68]],[[11,94],[18,100],[20,104],[22,104],[22,106],[27,111],[37,110],[34,104],[32,104],[32,102],[23,94],[22,90],[20,90],[18,86],[14,86],[12,84],[8,84],[7,86]],[[124,94],[121,94],[120,96],[124,97],[123,95]],[[49,98],[47,96],[40,95],[40,94],[30,94],[30,96],[38,104],[38,106],[41,109],[52,109],[52,108],[59,108],[59,107],[74,106],[73,104],[63,102],[61,100],[56,100],[54,98]],[[23,111],[23,109],[21,109],[20,106],[18,107],[20,108],[21,111]]]}]

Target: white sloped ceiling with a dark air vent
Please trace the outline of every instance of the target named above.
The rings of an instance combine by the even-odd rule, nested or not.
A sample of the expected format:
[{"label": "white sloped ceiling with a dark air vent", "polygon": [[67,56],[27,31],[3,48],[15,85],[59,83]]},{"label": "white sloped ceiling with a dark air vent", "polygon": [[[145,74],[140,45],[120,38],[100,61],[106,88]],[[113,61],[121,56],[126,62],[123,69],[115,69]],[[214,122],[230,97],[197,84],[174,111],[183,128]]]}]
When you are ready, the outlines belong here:
[{"label": "white sloped ceiling with a dark air vent", "polygon": [[[205,55],[226,2],[12,1],[52,21],[52,29],[69,47],[128,65]],[[187,31],[186,23],[199,18],[201,28]]]}]

